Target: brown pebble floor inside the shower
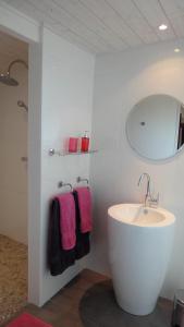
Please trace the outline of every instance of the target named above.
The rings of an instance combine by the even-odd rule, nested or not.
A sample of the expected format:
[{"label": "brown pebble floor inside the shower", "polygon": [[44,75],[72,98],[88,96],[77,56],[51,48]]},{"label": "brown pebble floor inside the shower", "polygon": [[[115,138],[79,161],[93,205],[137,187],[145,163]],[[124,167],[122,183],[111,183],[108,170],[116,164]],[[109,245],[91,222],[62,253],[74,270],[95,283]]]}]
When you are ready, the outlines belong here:
[{"label": "brown pebble floor inside the shower", "polygon": [[0,325],[27,300],[27,246],[0,234]]}]

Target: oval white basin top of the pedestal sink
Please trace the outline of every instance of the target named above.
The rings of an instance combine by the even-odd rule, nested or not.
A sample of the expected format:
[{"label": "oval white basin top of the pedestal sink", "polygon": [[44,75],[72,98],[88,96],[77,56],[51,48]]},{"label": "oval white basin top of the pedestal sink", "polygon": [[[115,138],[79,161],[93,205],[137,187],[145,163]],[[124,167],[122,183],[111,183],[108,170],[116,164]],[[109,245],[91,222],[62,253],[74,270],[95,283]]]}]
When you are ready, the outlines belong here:
[{"label": "oval white basin top of the pedestal sink", "polygon": [[140,227],[164,227],[175,221],[175,217],[168,210],[140,204],[114,205],[109,208],[108,214],[121,222]]}]

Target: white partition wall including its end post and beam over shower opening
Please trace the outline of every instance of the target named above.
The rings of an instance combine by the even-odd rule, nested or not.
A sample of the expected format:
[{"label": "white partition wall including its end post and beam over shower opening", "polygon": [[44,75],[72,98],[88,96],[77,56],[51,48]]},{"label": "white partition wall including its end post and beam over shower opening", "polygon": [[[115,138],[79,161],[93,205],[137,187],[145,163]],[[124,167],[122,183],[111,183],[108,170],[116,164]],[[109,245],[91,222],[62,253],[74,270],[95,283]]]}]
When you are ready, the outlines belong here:
[{"label": "white partition wall including its end post and beam over shower opening", "polygon": [[83,267],[52,278],[47,266],[48,208],[58,181],[89,175],[89,157],[49,157],[64,138],[91,131],[95,58],[36,22],[1,4],[0,28],[29,43],[28,299],[41,305]]}]

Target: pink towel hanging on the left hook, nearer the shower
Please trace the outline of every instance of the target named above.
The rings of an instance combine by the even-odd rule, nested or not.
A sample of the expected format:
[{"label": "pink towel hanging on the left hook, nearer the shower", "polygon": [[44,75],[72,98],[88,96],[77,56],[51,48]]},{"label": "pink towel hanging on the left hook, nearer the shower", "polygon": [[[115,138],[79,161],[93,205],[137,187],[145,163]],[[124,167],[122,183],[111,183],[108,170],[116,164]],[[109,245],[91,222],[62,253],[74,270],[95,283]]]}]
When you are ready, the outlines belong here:
[{"label": "pink towel hanging on the left hook, nearer the shower", "polygon": [[60,232],[63,250],[71,250],[76,243],[75,202],[72,193],[57,196],[60,204]]}]

